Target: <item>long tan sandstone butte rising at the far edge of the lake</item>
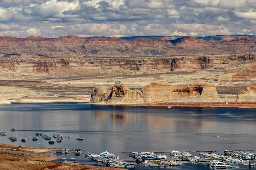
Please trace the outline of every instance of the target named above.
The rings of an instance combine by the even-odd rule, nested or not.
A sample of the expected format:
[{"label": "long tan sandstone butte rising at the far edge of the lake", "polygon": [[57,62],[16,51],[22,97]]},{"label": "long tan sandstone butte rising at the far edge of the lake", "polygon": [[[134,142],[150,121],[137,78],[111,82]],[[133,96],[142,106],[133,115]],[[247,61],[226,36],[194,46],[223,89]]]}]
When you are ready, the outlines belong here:
[{"label": "long tan sandstone butte rising at the far edge of the lake", "polygon": [[141,90],[131,90],[125,85],[93,89],[90,102],[107,103],[157,103],[157,102],[214,102],[219,96],[212,83],[172,85],[151,83]]}]

